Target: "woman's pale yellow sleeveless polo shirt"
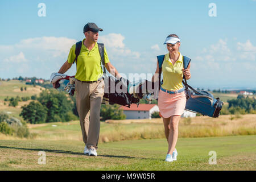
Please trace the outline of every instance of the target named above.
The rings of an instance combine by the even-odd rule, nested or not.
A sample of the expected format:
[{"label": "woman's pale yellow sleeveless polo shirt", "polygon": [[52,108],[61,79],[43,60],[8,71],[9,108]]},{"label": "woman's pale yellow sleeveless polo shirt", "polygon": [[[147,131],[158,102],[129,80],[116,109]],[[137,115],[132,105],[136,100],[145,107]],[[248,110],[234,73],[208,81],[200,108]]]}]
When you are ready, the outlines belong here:
[{"label": "woman's pale yellow sleeveless polo shirt", "polygon": [[179,52],[179,59],[173,65],[169,53],[164,56],[164,61],[162,65],[163,71],[163,85],[162,88],[166,90],[179,90],[183,88],[182,78],[183,78],[183,56]]}]

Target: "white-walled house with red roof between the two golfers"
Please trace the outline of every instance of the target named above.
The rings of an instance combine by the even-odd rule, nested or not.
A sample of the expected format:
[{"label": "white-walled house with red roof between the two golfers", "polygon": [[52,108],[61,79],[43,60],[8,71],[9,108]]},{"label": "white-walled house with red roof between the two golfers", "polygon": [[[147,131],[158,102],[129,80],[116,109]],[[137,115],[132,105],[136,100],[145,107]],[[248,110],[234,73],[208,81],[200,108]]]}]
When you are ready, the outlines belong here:
[{"label": "white-walled house with red roof between the two golfers", "polygon": [[121,106],[119,109],[123,110],[126,115],[126,119],[151,119],[151,114],[159,112],[159,108],[156,104],[132,104],[129,107]]}]

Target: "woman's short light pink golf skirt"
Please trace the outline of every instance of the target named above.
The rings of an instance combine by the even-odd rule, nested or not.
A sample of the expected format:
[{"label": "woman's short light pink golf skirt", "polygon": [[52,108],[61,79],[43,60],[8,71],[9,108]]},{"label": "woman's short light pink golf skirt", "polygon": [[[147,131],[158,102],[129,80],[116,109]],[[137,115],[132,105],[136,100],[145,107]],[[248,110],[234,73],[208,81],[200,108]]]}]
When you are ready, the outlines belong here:
[{"label": "woman's short light pink golf skirt", "polygon": [[158,96],[158,107],[160,117],[169,118],[172,115],[182,115],[186,106],[185,92],[170,94],[160,89]]}]

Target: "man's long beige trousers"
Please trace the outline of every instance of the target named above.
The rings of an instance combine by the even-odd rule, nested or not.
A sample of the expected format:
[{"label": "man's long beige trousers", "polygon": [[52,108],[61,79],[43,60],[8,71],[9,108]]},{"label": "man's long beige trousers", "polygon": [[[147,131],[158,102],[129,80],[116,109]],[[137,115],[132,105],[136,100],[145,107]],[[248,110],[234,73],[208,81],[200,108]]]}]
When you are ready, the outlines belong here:
[{"label": "man's long beige trousers", "polygon": [[100,109],[104,96],[104,80],[86,83],[76,80],[76,107],[79,113],[82,140],[87,148],[97,150],[100,136]]}]

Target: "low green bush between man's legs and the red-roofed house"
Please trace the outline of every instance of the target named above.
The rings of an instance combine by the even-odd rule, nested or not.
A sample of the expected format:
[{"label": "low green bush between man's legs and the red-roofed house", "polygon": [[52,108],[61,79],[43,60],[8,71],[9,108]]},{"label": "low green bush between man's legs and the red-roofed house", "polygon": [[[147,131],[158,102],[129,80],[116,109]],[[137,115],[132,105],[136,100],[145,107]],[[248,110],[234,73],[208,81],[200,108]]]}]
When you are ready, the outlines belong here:
[{"label": "low green bush between man's legs and the red-roofed house", "polygon": [[101,117],[102,120],[106,119],[125,119],[126,115],[123,114],[123,110],[119,109],[119,105],[101,105]]}]

